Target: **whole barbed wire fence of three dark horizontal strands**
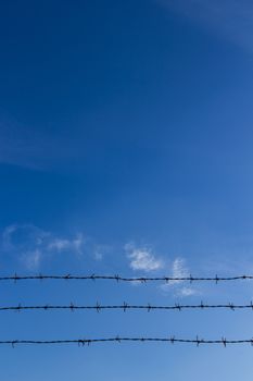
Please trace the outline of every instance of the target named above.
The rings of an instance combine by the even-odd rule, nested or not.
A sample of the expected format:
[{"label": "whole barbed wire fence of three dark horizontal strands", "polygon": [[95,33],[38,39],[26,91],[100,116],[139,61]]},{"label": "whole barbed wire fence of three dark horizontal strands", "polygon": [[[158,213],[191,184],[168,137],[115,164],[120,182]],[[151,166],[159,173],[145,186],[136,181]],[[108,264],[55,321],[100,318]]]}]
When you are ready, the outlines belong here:
[{"label": "whole barbed wire fence of three dark horizontal strands", "polygon": [[[230,282],[230,281],[246,281],[253,280],[253,275],[237,275],[237,276],[138,276],[138,278],[126,278],[121,276],[118,274],[115,275],[100,275],[100,274],[90,274],[90,275],[76,275],[76,274],[36,274],[36,275],[14,275],[9,276],[0,276],[0,282],[4,281],[14,281],[15,283],[18,281],[33,281],[33,280],[65,280],[65,281],[116,281],[119,282],[165,282],[174,284],[178,282],[215,282],[218,284],[219,282]],[[16,306],[0,306],[0,311],[23,311],[23,310],[96,310],[100,312],[102,310],[123,310],[126,312],[127,310],[147,310],[156,311],[156,310],[204,310],[204,309],[228,309],[231,311],[248,309],[253,310],[253,302],[249,304],[205,304],[201,302],[200,304],[175,304],[175,305],[132,305],[124,302],[121,305],[102,305],[97,303],[96,305],[75,305],[71,303],[69,305],[22,305],[18,304]],[[176,336],[163,336],[163,337],[131,337],[131,336],[115,336],[115,337],[98,337],[98,339],[71,339],[71,340],[0,340],[0,345],[11,345],[15,347],[16,345],[55,345],[55,344],[77,344],[79,346],[96,344],[96,343],[123,343],[123,342],[136,342],[136,343],[169,343],[169,344],[193,344],[197,346],[200,345],[213,345],[213,344],[222,344],[224,347],[227,345],[237,345],[237,344],[250,344],[253,346],[253,337],[252,339],[242,339],[242,340],[227,340],[226,337],[217,339],[217,340],[206,340],[206,339],[180,339]]]}]

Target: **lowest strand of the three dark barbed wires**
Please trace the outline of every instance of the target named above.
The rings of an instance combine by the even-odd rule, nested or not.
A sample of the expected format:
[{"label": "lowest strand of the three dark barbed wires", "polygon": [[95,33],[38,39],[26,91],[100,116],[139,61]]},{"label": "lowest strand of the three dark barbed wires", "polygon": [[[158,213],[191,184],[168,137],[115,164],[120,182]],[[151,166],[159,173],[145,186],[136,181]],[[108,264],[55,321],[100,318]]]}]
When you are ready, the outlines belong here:
[{"label": "lowest strand of the three dark barbed wires", "polygon": [[226,337],[222,337],[218,340],[204,340],[199,339],[177,339],[175,336],[170,337],[104,337],[104,339],[74,339],[74,340],[49,340],[49,341],[40,341],[40,340],[7,340],[0,341],[0,345],[15,345],[21,344],[29,344],[29,345],[54,345],[54,344],[78,344],[79,346],[85,346],[93,344],[93,343],[122,343],[122,342],[141,342],[141,343],[181,343],[181,344],[194,344],[197,346],[200,345],[212,345],[212,344],[222,344],[226,347],[229,344],[251,344],[253,346],[253,339],[243,339],[243,340],[227,340]]}]

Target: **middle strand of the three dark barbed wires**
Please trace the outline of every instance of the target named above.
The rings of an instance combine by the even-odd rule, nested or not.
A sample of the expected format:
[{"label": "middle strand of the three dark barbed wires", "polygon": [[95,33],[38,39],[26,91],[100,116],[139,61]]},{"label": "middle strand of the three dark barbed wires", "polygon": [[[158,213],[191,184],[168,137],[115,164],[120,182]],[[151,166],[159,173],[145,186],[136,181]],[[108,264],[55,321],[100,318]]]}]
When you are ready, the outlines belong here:
[{"label": "middle strand of the three dark barbed wires", "polygon": [[101,310],[105,309],[122,309],[125,311],[130,309],[142,309],[147,310],[148,312],[151,310],[178,310],[181,311],[184,309],[229,309],[229,310],[236,310],[236,309],[252,309],[253,310],[253,302],[251,302],[248,305],[237,305],[233,303],[228,304],[216,304],[216,305],[208,305],[201,302],[198,305],[184,305],[184,304],[175,304],[169,306],[160,306],[160,305],[131,305],[126,302],[124,302],[122,305],[101,305],[100,303],[97,303],[96,305],[75,305],[71,303],[69,305],[34,305],[34,306],[23,306],[22,304],[18,304],[17,306],[0,306],[0,311],[22,311],[22,310],[54,310],[54,309],[66,309],[66,310],[97,310],[97,312],[100,312]]}]

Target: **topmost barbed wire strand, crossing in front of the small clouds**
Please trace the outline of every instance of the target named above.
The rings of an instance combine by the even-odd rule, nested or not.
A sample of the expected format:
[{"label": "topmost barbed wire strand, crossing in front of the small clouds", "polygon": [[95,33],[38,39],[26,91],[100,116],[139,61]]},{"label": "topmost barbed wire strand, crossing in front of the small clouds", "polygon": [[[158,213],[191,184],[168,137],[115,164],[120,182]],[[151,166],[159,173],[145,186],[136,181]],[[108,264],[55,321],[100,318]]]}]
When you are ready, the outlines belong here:
[{"label": "topmost barbed wire strand, crossing in front of the small clouds", "polygon": [[46,275],[46,274],[38,274],[38,275],[17,275],[16,273],[14,275],[10,276],[0,276],[0,281],[27,281],[27,280],[66,280],[66,281],[73,281],[73,280],[90,280],[90,281],[97,281],[97,280],[106,280],[106,281],[116,281],[116,282],[140,282],[140,283],[147,283],[147,282],[166,282],[166,283],[174,283],[174,282],[215,282],[216,284],[218,282],[228,282],[228,281],[240,281],[240,280],[253,280],[253,275],[237,275],[237,276],[134,276],[134,278],[126,278],[121,275],[72,275],[72,274],[65,274],[65,275]]}]

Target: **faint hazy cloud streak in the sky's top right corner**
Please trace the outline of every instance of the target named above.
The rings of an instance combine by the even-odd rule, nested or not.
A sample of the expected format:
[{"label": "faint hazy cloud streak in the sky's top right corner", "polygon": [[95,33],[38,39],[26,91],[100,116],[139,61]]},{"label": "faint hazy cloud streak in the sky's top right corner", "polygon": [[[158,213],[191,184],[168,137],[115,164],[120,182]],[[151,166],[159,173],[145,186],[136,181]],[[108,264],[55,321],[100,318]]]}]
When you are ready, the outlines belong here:
[{"label": "faint hazy cloud streak in the sky's top right corner", "polygon": [[157,0],[219,37],[253,51],[253,2],[249,0]]}]

